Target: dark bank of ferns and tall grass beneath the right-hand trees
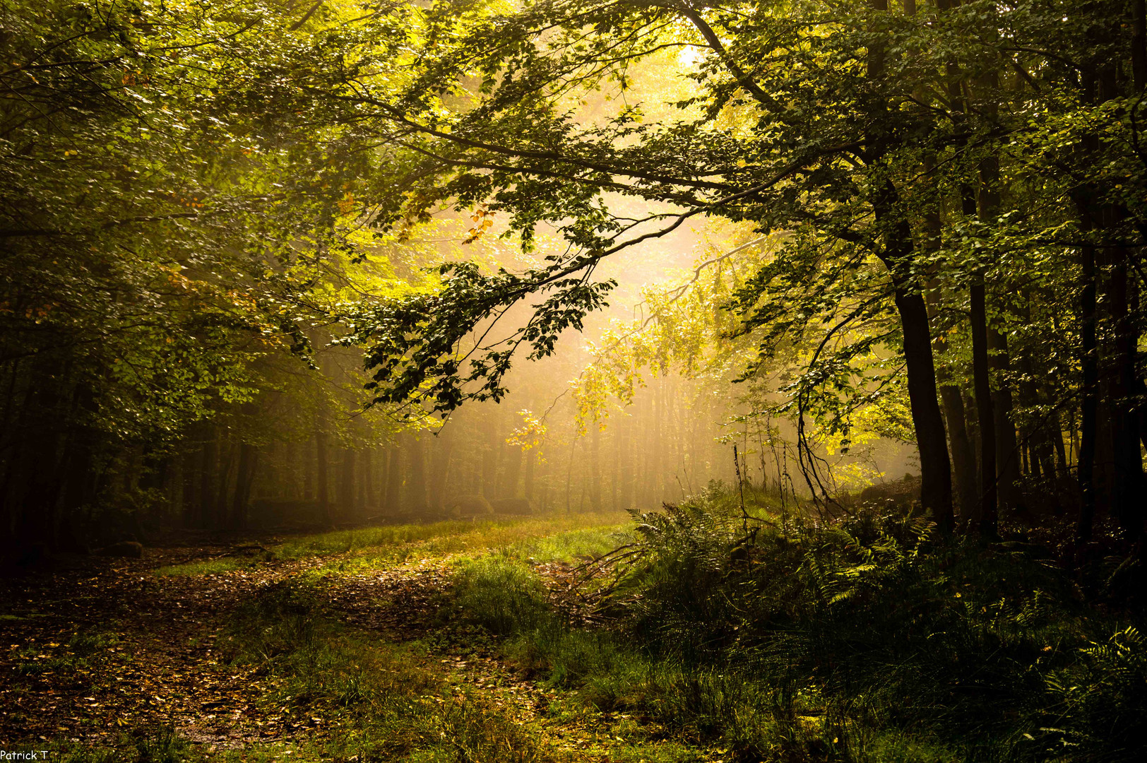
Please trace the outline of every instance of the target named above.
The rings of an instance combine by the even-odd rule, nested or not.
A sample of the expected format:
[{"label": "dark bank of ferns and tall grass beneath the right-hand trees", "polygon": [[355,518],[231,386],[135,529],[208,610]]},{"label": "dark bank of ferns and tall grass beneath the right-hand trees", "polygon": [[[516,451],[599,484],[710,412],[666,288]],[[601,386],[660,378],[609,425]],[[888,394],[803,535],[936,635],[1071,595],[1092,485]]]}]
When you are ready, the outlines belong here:
[{"label": "dark bank of ferns and tall grass beneath the right-hand trees", "polygon": [[896,512],[781,528],[717,491],[638,519],[600,628],[513,553],[458,604],[554,685],[740,761],[1147,760],[1140,618],[1038,550]]}]

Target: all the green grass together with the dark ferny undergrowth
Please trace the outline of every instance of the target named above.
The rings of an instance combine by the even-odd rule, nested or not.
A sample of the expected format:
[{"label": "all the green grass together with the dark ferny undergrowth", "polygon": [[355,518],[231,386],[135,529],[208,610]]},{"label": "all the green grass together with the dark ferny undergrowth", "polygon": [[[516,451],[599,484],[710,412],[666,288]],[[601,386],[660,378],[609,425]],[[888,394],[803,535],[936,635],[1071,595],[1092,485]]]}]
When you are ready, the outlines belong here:
[{"label": "all the green grass together with the dark ferny undergrowth", "polygon": [[[241,607],[220,646],[267,677],[266,708],[331,719],[291,753],[305,761],[1147,757],[1139,610],[1097,605],[1086,591],[1101,586],[1031,544],[942,542],[897,513],[822,527],[790,515],[781,531],[767,497],[747,499],[766,520],[751,532],[718,489],[638,524],[522,517],[294,539],[267,556],[327,559]],[[603,624],[570,625],[538,571],[623,544],[641,554],[602,600]],[[455,570],[427,640],[388,643],[320,606],[340,574],[404,560]],[[259,563],[169,574],[225,574],[216,562]],[[438,659],[460,645],[497,651],[547,704],[522,716],[494,683],[465,688]]]}]

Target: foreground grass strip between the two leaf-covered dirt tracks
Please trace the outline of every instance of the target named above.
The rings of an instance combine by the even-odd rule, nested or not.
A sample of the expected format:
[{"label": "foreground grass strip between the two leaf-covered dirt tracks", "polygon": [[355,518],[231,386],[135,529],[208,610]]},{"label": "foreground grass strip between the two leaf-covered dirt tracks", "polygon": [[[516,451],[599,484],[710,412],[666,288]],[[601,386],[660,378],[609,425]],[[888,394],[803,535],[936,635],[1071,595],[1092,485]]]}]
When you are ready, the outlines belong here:
[{"label": "foreground grass strip between the two leaf-covered dirt tracks", "polygon": [[301,583],[268,587],[234,616],[221,641],[233,663],[252,663],[274,688],[267,707],[320,715],[331,731],[306,758],[455,763],[554,760],[532,729],[474,694],[454,692],[419,645],[380,641],[318,614]]}]

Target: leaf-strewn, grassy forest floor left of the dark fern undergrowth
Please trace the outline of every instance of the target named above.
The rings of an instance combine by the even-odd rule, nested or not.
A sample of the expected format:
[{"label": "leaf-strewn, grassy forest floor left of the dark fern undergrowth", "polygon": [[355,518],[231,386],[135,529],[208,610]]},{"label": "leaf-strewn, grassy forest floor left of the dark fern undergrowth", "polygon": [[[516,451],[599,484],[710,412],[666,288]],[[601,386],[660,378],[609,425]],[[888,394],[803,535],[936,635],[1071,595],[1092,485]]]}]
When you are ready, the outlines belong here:
[{"label": "leaf-strewn, grassy forest floor left of the dark fern undergrowth", "polygon": [[452,604],[514,548],[553,591],[627,515],[217,538],[0,579],[0,748],[50,758],[719,761],[536,680]]}]

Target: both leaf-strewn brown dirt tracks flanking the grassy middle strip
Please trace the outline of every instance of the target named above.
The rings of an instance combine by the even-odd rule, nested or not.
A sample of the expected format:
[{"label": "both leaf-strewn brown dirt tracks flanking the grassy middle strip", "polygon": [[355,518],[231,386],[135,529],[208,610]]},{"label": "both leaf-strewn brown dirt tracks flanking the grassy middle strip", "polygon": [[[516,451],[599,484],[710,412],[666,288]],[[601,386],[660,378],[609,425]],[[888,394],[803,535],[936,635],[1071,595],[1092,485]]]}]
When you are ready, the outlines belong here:
[{"label": "both leaf-strewn brown dirt tracks flanking the grassy middle strip", "polygon": [[[259,589],[329,565],[330,556],[260,561],[214,575],[155,569],[227,553],[225,546],[148,548],[142,560],[75,558],[0,579],[0,743],[109,743],[125,732],[174,727],[205,750],[288,742],[329,719],[259,702],[265,679],[229,664],[217,639]],[[490,637],[436,622],[450,582],[440,560],[412,560],[327,579],[323,614],[430,646],[451,688],[481,693],[514,723],[544,715],[555,692],[499,660]],[[608,718],[607,718],[608,719]],[[549,724],[553,745],[577,750],[598,731]]]}]

